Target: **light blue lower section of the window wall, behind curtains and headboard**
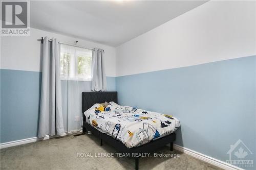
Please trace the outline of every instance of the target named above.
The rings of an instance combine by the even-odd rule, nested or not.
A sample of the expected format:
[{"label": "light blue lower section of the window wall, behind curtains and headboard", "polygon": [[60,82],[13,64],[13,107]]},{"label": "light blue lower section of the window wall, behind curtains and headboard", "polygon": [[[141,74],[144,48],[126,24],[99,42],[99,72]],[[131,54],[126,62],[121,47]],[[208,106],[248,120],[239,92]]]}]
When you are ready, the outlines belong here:
[{"label": "light blue lower section of the window wall, behind curtains and headboard", "polygon": [[[1,69],[0,142],[37,136],[41,72]],[[107,77],[108,90],[115,91],[115,78]],[[63,84],[63,83],[62,83]],[[80,82],[81,84],[81,82]],[[81,90],[90,91],[90,82]],[[85,88],[85,89],[84,89]]]}]

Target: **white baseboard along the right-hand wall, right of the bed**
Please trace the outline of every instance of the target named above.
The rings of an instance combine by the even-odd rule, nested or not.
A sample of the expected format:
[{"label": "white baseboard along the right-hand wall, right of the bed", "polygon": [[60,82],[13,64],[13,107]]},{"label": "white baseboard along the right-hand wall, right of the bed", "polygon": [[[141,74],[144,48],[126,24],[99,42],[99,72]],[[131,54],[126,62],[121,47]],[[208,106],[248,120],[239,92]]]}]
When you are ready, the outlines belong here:
[{"label": "white baseboard along the right-hand wall, right of the bed", "polygon": [[236,169],[236,170],[244,170],[240,167],[237,167],[237,166],[234,166],[232,164],[229,164],[229,163],[226,163],[224,161],[221,161],[221,160],[218,160],[218,159],[215,159],[215,158],[212,158],[210,156],[207,156],[207,155],[204,155],[204,154],[201,154],[199,152],[196,152],[196,151],[193,151],[193,150],[190,150],[188,148],[185,148],[185,147],[181,147],[180,145],[178,144],[174,144],[174,149],[182,152],[182,153],[185,153],[187,155],[190,155],[190,156],[193,156],[197,159],[200,159],[202,161],[205,161],[205,162],[208,162],[212,165],[215,165],[215,166],[218,166],[220,168],[223,168],[223,169]]}]

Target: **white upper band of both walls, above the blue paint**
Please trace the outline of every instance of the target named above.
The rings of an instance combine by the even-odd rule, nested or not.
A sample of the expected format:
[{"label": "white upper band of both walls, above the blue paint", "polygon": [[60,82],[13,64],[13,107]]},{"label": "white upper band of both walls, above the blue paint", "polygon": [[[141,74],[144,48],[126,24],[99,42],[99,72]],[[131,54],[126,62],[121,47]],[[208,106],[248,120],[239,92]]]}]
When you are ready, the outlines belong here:
[{"label": "white upper band of both walls, above the blue paint", "polygon": [[256,54],[255,6],[255,1],[210,1],[116,49],[38,29],[30,36],[1,36],[0,66],[41,71],[37,39],[45,36],[104,48],[111,77],[251,56]]}]

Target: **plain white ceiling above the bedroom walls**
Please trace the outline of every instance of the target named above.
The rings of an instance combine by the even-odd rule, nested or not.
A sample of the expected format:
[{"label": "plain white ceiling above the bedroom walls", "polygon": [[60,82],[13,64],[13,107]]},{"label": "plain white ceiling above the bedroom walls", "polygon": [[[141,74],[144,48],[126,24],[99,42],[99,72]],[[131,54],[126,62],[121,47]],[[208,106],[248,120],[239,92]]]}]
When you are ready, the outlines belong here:
[{"label": "plain white ceiling above the bedroom walls", "polygon": [[31,1],[31,27],[118,46],[207,1]]}]

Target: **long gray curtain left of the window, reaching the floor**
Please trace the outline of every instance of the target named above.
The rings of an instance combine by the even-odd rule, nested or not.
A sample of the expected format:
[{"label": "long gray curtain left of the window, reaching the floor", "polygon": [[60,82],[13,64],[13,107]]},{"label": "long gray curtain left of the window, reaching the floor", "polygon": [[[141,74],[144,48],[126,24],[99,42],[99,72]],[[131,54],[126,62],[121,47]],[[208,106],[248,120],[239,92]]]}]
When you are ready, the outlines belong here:
[{"label": "long gray curtain left of the window, reaching the floor", "polygon": [[60,87],[60,47],[56,39],[45,37],[42,44],[42,81],[38,137],[63,135]]}]

